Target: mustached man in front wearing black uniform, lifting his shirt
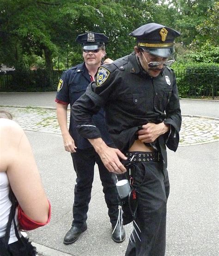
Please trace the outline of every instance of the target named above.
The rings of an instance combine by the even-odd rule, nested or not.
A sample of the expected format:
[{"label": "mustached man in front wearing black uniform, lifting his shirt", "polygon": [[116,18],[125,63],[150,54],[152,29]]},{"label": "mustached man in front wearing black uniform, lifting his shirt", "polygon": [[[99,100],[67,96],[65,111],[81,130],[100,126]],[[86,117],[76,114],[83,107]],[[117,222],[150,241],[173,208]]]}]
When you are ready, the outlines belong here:
[{"label": "mustached man in front wearing black uniform, lifting his shirt", "polygon": [[[166,146],[176,151],[182,122],[176,77],[168,66],[179,35],[156,23],[131,32],[137,41],[134,52],[101,66],[96,82],[72,107],[79,134],[89,139],[110,172],[125,173],[126,159],[134,166],[131,178],[139,201],[126,256],[165,254]],[[103,142],[91,119],[100,107],[117,149]]]}]

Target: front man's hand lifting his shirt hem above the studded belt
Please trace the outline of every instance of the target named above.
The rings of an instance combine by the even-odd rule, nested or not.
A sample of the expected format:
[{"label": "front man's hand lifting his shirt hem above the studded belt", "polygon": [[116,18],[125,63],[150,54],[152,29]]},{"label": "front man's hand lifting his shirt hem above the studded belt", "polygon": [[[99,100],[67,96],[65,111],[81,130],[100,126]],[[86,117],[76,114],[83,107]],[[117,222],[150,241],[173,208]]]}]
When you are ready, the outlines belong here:
[{"label": "front man's hand lifting his shirt hem above the studded belt", "polygon": [[170,125],[165,125],[164,123],[157,125],[147,123],[146,125],[142,125],[142,128],[142,130],[138,131],[138,139],[143,143],[150,143],[154,142],[160,135],[169,131]]}]

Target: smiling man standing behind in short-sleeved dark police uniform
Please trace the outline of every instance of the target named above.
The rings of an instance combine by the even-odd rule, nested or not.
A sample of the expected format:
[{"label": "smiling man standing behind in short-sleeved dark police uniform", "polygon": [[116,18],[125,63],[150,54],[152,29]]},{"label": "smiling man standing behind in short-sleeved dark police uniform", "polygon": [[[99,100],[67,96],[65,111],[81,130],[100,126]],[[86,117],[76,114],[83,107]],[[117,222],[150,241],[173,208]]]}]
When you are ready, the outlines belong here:
[{"label": "smiling man standing behind in short-sleeved dark police uniform", "polygon": [[[74,188],[73,223],[71,229],[64,237],[64,244],[74,243],[79,235],[87,229],[86,220],[88,205],[91,200],[91,188],[94,178],[94,165],[97,163],[103,193],[108,207],[110,222],[114,230],[112,239],[122,242],[125,231],[116,225],[118,218],[117,190],[114,174],[108,172],[97,152],[90,142],[79,135],[72,117],[70,127],[67,129],[67,106],[73,103],[85,92],[87,86],[94,80],[98,67],[105,56],[105,43],[108,37],[101,33],[87,32],[79,35],[76,41],[82,45],[84,62],[65,71],[61,75],[55,101],[57,102],[57,119],[61,128],[65,149],[71,152],[74,170],[77,175]],[[112,62],[110,59],[107,62]],[[113,146],[104,121],[104,111],[101,109],[93,118],[103,141]]]}]

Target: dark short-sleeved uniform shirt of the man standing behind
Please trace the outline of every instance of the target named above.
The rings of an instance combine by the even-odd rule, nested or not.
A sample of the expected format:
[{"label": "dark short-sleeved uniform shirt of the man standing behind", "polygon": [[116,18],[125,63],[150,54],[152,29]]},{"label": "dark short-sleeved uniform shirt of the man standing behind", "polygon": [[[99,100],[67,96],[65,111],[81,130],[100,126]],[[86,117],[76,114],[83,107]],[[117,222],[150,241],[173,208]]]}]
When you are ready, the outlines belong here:
[{"label": "dark short-sleeved uniform shirt of the man standing behind", "polygon": [[[85,62],[63,72],[61,75],[61,80],[63,81],[63,84],[61,89],[56,94],[56,102],[63,104],[70,103],[70,106],[72,106],[73,103],[85,93],[87,86],[91,82]],[[106,144],[111,144],[112,141],[108,134],[107,126],[104,120],[103,109],[100,109],[100,111],[93,116],[92,122],[98,127],[104,142]],[[72,116],[70,117],[69,133],[73,137],[75,145],[79,149],[91,147],[90,142],[79,135]]]}]

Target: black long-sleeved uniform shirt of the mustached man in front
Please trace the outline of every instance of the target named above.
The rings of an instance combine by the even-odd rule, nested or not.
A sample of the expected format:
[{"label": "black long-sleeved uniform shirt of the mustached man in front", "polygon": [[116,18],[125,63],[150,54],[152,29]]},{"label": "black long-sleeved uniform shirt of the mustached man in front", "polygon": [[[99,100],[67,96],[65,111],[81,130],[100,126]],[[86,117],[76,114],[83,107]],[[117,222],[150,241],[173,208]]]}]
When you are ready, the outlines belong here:
[{"label": "black long-sleeved uniform shirt of the mustached man in front", "polygon": [[83,137],[100,137],[98,129],[92,126],[91,115],[103,106],[110,135],[123,152],[134,143],[140,125],[163,121],[171,126],[170,133],[159,137],[163,158],[166,159],[165,143],[176,151],[182,118],[173,70],[165,67],[153,78],[132,53],[100,67],[96,81],[72,107]]}]

